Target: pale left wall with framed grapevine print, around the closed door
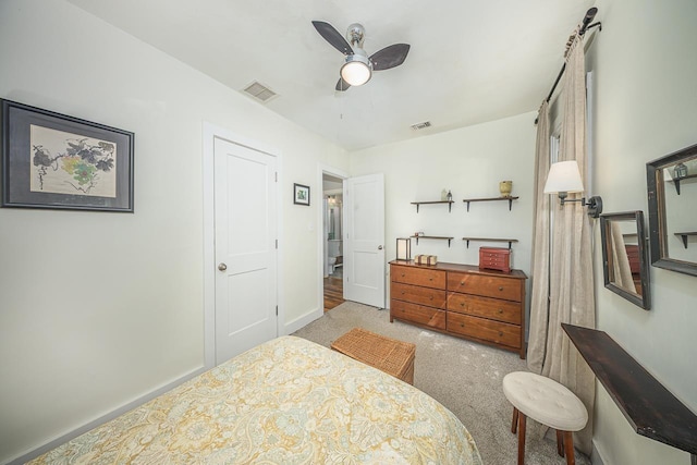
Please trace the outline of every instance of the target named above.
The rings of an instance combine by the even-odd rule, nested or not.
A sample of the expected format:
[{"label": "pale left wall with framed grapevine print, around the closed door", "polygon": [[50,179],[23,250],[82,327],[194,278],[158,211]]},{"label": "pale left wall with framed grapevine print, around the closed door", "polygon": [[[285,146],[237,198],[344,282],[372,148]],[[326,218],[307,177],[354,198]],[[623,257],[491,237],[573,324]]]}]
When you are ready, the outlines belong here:
[{"label": "pale left wall with framed grapevine print, around the closed door", "polygon": [[204,366],[205,121],[281,152],[284,322],[321,315],[292,186],[343,150],[60,0],[0,2],[0,97],[135,133],[135,213],[0,209],[0,463]]}]

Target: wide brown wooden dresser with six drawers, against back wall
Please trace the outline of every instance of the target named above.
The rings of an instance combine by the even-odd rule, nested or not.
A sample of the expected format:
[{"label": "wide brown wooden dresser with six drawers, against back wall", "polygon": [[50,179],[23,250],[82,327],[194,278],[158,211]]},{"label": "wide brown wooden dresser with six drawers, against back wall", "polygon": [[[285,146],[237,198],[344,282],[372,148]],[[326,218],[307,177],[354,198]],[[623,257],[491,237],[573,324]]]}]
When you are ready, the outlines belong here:
[{"label": "wide brown wooden dresser with six drawers, against back wall", "polygon": [[525,358],[525,280],[476,266],[390,262],[394,319],[517,352]]}]

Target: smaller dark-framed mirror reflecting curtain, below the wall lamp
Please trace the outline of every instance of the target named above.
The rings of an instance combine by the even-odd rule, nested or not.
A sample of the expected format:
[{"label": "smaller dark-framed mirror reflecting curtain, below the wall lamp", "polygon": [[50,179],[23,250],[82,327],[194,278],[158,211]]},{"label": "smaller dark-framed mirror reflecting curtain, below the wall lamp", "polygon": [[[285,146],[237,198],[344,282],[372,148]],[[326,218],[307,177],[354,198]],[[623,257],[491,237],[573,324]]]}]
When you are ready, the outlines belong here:
[{"label": "smaller dark-framed mirror reflecting curtain, below the wall lamp", "polygon": [[645,310],[651,308],[644,212],[601,215],[600,236],[606,287]]}]

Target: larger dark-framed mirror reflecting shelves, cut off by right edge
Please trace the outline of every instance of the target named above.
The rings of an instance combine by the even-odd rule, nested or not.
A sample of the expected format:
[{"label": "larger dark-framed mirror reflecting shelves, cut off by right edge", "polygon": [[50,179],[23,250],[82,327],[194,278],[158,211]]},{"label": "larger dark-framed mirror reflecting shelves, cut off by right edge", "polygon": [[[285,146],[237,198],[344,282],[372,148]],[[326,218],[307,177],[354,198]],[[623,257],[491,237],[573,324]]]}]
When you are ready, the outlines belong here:
[{"label": "larger dark-framed mirror reflecting shelves, cut off by right edge", "polygon": [[697,145],[646,163],[651,265],[697,276]]}]

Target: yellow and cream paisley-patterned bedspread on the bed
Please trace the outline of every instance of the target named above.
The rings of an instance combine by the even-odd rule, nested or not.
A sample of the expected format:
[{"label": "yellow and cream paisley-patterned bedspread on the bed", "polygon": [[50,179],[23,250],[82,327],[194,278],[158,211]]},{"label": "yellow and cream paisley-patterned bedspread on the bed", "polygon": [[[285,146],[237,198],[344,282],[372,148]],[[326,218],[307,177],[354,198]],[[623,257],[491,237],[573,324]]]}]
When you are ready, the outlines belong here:
[{"label": "yellow and cream paisley-patterned bedspread on the bed", "polygon": [[264,343],[32,464],[474,464],[418,389],[295,336]]}]

